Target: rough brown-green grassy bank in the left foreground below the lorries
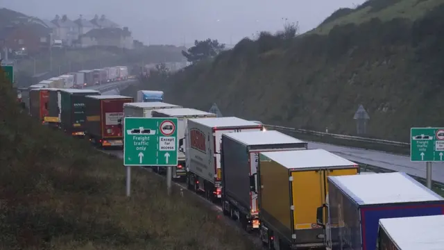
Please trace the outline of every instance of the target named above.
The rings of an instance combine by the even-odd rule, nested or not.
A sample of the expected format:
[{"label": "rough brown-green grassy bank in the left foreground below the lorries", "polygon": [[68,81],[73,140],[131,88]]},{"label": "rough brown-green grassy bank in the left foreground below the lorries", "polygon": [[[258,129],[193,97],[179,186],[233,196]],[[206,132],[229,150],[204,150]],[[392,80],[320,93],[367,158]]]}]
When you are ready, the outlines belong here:
[{"label": "rough brown-green grassy bank in the left foreground below the lorries", "polygon": [[0,72],[1,249],[255,249],[185,192],[41,126]]}]

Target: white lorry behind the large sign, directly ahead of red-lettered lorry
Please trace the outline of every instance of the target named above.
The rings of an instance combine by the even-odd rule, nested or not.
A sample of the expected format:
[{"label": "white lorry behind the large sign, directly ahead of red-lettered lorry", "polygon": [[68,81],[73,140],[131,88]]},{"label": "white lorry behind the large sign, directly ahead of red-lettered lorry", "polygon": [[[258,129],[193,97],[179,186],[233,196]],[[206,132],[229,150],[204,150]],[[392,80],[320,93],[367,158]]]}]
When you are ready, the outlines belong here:
[{"label": "white lorry behind the large sign, directly ahead of red-lettered lorry", "polygon": [[[169,108],[162,110],[153,110],[153,117],[176,117],[178,118],[178,165],[173,168],[173,178],[185,178],[185,167],[187,166],[185,158],[185,131],[187,131],[187,121],[193,118],[216,117],[212,113],[194,108]],[[165,167],[156,167],[155,170],[164,173]]]}]

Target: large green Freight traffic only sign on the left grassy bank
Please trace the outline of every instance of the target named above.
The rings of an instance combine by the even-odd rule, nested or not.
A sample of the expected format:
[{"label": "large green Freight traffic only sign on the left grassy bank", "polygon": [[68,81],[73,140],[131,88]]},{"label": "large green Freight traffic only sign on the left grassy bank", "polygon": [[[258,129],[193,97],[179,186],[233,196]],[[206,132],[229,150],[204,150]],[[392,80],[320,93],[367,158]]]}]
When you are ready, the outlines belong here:
[{"label": "large green Freight traffic only sign on the left grassy bank", "polygon": [[125,117],[123,165],[178,165],[178,119]]}]

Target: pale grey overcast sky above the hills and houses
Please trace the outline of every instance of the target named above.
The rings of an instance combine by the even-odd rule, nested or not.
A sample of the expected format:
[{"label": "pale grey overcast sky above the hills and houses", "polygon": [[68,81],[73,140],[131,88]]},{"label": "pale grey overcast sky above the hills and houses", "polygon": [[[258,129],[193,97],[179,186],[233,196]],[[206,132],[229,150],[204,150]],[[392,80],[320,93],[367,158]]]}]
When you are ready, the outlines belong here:
[{"label": "pale grey overcast sky above the hills and houses", "polygon": [[105,15],[128,26],[145,44],[183,44],[206,38],[235,44],[257,31],[278,31],[284,20],[299,22],[301,31],[320,24],[341,7],[364,0],[0,0],[10,8],[44,19],[56,14],[77,19]]}]

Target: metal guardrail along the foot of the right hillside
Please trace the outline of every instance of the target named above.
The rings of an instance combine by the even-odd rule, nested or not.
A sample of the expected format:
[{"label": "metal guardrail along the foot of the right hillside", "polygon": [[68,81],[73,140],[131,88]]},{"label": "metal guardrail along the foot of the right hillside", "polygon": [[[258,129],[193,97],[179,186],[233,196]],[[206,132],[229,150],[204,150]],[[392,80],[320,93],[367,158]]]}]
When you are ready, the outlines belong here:
[{"label": "metal guardrail along the foot of the right hillside", "polygon": [[339,135],[339,134],[334,134],[334,133],[310,131],[307,129],[289,128],[289,127],[285,127],[285,126],[276,126],[276,125],[268,125],[268,124],[264,124],[264,126],[266,126],[268,128],[280,129],[280,130],[284,130],[284,131],[292,131],[295,133],[314,135],[314,136],[318,136],[318,137],[330,137],[330,138],[336,138],[336,139],[341,139],[341,140],[350,140],[350,141],[355,141],[355,142],[370,142],[370,143],[384,144],[384,145],[390,145],[390,146],[395,146],[395,147],[410,147],[410,143],[408,143],[408,142],[395,142],[395,141],[391,141],[391,140],[363,138],[363,137],[352,136],[352,135]]}]

